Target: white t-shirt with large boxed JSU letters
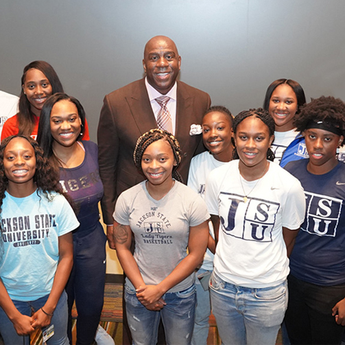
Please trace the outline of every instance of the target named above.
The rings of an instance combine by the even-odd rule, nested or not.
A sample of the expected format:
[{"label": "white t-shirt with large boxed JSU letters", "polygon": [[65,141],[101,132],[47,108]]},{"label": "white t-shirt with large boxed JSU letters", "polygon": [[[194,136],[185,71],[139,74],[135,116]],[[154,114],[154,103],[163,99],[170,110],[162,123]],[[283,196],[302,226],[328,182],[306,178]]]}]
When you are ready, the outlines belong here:
[{"label": "white t-shirt with large boxed JSU letters", "polygon": [[216,274],[244,287],[283,283],[289,260],[282,228],[298,229],[305,217],[300,182],[274,163],[259,181],[248,182],[233,160],[211,171],[205,200],[211,215],[220,218]]}]

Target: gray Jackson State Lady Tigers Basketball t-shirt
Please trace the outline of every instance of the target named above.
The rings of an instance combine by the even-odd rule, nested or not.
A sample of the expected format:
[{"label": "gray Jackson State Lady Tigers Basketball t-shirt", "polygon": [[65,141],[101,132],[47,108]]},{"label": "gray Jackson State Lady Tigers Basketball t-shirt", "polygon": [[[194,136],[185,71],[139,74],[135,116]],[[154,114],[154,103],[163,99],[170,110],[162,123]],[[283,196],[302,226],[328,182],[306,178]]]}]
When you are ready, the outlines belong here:
[{"label": "gray Jackson State Lady Tigers Basketball t-shirt", "polygon": [[[176,181],[164,198],[155,200],[143,181],[121,193],[113,217],[134,233],[134,259],[145,284],[157,285],[187,256],[189,226],[210,215],[200,195],[182,183]],[[168,292],[183,291],[193,282],[191,274]],[[134,289],[128,278],[126,283]]]}]

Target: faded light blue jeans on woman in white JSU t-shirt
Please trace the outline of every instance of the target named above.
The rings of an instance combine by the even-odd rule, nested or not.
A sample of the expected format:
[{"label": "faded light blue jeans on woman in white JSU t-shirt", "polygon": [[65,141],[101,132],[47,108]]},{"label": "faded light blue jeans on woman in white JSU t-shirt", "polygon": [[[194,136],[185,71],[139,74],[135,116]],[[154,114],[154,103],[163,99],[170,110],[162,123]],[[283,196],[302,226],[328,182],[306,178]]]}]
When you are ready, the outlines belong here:
[{"label": "faded light blue jeans on woman in white JSU t-shirt", "polygon": [[256,289],[223,281],[213,272],[212,312],[222,344],[276,344],[287,309],[287,282]]}]

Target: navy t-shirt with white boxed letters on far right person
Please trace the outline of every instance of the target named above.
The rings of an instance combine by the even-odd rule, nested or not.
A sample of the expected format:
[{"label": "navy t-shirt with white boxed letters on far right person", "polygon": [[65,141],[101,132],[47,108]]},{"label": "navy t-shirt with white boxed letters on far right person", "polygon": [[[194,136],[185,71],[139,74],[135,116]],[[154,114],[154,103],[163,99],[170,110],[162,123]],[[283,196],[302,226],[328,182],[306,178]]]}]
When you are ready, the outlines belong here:
[{"label": "navy t-shirt with white boxed letters on far right person", "polygon": [[290,257],[291,273],[317,285],[345,283],[345,164],[327,174],[307,171],[309,159],[285,167],[300,180],[307,202],[305,222]]}]

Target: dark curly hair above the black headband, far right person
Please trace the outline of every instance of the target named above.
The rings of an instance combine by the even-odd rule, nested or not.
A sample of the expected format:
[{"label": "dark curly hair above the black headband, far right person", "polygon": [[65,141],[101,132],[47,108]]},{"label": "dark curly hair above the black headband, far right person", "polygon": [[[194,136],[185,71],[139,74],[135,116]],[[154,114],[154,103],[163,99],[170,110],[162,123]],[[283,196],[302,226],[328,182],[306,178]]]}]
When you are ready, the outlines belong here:
[{"label": "dark curly hair above the black headband, far right person", "polygon": [[[311,99],[311,102],[305,104],[300,113],[296,115],[297,130],[303,132],[311,121],[329,123],[329,125],[339,128],[345,138],[345,103],[342,102],[342,99],[331,96]],[[342,141],[342,145],[344,143],[345,139]]]}]

